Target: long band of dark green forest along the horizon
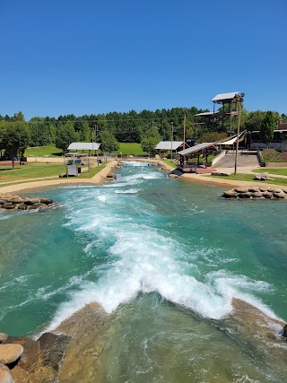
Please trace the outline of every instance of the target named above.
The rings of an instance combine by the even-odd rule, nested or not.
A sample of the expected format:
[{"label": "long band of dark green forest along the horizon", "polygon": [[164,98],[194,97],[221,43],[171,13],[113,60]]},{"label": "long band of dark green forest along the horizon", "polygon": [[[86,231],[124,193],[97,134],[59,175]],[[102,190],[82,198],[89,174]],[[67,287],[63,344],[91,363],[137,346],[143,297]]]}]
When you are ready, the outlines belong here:
[{"label": "long band of dark green forest along the horizon", "polygon": [[[147,151],[151,150],[156,141],[171,139],[171,123],[174,126],[173,140],[182,140],[184,131],[184,116],[186,114],[186,138],[195,137],[197,142],[215,141],[236,132],[237,117],[233,117],[231,124],[227,117],[222,122],[213,125],[211,121],[201,120],[195,115],[203,109],[173,108],[157,109],[155,111],[131,110],[127,113],[109,112],[99,115],[71,115],[50,117],[33,117],[25,121],[22,112],[13,117],[0,116],[0,149],[4,149],[8,131],[11,128],[25,132],[19,142],[19,149],[24,146],[44,146],[56,144],[57,148],[66,150],[71,142],[107,142],[106,150],[117,148],[120,143],[142,143]],[[250,111],[242,108],[240,129],[260,130],[265,140],[272,138],[273,130],[278,119],[287,119],[275,111]],[[20,124],[21,123],[21,124]],[[11,126],[10,130],[8,126]],[[13,127],[14,126],[14,127]],[[18,127],[17,127],[18,126]],[[22,128],[19,130],[19,126]],[[12,129],[12,130],[13,130]],[[4,133],[6,132],[6,134]],[[266,137],[265,137],[266,135]],[[5,141],[6,140],[6,141]],[[17,146],[17,144],[16,144]],[[114,149],[115,150],[115,149]],[[6,150],[7,152],[7,150]]]}]

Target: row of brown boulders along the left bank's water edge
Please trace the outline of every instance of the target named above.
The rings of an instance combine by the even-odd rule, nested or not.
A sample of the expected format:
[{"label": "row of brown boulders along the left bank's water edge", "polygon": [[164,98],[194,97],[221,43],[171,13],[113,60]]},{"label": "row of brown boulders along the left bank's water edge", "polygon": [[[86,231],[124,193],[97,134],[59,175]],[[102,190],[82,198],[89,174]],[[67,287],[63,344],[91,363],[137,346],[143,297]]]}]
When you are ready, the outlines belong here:
[{"label": "row of brown boulders along the left bank's water edge", "polygon": [[9,210],[45,210],[54,201],[45,197],[22,197],[13,194],[0,194],[0,208]]}]

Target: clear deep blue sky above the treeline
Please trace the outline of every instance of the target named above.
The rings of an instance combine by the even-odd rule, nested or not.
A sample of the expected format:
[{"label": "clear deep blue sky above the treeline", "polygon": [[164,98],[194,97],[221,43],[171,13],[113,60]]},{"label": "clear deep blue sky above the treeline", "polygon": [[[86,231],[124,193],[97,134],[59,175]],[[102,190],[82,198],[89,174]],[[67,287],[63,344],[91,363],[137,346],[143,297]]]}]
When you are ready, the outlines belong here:
[{"label": "clear deep blue sky above the treeline", "polygon": [[286,0],[0,0],[0,114],[212,109],[287,114]]}]

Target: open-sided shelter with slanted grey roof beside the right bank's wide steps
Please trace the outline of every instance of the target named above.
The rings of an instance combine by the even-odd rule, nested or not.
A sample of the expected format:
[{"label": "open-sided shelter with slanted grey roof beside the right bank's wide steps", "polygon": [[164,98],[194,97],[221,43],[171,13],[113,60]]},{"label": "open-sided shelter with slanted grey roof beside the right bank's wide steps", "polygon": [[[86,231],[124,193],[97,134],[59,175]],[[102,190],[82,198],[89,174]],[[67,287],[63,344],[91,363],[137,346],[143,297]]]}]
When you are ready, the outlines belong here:
[{"label": "open-sided shelter with slanted grey roof beside the right bank's wide steps", "polygon": [[[207,173],[212,172],[213,168],[208,168],[207,157],[208,154],[216,151],[217,147],[216,143],[202,143],[192,146],[191,148],[187,148],[183,151],[178,152],[179,161],[178,161],[178,169],[183,172],[194,172],[194,173]],[[196,161],[193,161],[190,157],[196,154]],[[204,166],[199,164],[199,156],[205,156],[205,164]]]}]

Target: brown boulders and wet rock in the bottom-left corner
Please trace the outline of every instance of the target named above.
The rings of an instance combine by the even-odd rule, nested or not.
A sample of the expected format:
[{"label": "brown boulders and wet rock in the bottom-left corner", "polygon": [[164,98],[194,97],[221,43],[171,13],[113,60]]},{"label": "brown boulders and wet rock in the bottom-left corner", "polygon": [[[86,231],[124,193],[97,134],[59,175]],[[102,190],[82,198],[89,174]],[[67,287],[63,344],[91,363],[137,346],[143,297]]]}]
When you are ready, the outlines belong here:
[{"label": "brown boulders and wet rock in the bottom-left corner", "polygon": [[52,333],[38,340],[0,333],[0,382],[55,381],[69,342]]}]

